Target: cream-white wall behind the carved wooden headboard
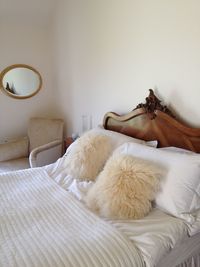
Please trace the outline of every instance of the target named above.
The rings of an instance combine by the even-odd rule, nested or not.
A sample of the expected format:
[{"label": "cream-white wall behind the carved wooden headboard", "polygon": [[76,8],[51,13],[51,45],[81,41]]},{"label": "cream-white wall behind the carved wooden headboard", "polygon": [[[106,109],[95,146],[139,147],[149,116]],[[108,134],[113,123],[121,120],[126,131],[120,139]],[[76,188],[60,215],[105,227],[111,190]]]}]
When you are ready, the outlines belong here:
[{"label": "cream-white wall behind the carved wooden headboard", "polygon": [[68,133],[106,111],[127,112],[149,88],[200,127],[200,2],[197,0],[60,1],[55,73]]}]

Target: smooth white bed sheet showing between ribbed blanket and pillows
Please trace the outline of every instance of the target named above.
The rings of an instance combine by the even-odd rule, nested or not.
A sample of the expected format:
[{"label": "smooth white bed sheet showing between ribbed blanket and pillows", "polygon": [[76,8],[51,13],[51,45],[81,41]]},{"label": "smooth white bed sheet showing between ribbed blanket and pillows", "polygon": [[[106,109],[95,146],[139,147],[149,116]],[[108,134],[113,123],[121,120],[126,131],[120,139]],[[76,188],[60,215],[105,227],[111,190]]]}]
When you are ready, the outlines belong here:
[{"label": "smooth white bed sheet showing between ribbed blanket and pillows", "polygon": [[[61,162],[57,164],[59,164],[59,168],[62,165]],[[81,201],[84,199],[88,188],[92,184],[91,182],[77,182],[73,177],[68,176],[67,170],[64,169],[58,173],[56,165],[49,168],[49,171],[53,173],[54,179],[63,188],[69,190]],[[179,248],[181,244],[189,238],[188,235],[192,233],[192,228],[190,225],[186,224],[186,222],[179,218],[172,217],[159,209],[154,209],[148,216],[141,220],[104,220],[109,221],[109,223],[114,225],[134,242],[140,250],[147,267],[160,267],[160,261],[163,261],[165,258],[167,259],[167,263],[175,262],[177,257],[174,256],[173,253],[171,254],[171,251],[177,250],[178,252],[177,248]],[[191,240],[191,238],[189,240]],[[184,251],[185,253],[187,251],[189,252],[185,255],[190,254],[191,247],[190,245],[187,246],[187,243],[184,247]],[[180,253],[179,255],[185,259],[183,254]],[[172,267],[175,265],[162,266]]]}]

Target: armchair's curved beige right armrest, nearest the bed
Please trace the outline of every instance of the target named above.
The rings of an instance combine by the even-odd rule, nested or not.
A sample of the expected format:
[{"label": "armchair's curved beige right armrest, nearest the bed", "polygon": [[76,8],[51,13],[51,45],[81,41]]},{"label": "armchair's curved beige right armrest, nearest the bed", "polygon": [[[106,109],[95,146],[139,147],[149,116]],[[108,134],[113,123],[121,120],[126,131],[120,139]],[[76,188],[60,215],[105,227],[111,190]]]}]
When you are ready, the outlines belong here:
[{"label": "armchair's curved beige right armrest, nearest the bed", "polygon": [[45,145],[36,147],[29,155],[31,168],[41,167],[55,162],[62,156],[63,141],[55,140]]}]

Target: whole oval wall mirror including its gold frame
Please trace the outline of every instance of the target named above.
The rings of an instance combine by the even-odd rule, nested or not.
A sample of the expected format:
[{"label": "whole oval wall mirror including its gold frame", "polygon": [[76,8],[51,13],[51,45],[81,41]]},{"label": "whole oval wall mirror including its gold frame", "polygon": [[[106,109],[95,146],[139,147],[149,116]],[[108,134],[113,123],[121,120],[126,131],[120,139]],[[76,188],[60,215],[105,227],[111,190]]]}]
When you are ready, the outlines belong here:
[{"label": "whole oval wall mirror including its gold frame", "polygon": [[28,98],[35,95],[42,86],[40,73],[25,64],[12,65],[0,76],[4,92],[14,98]]}]

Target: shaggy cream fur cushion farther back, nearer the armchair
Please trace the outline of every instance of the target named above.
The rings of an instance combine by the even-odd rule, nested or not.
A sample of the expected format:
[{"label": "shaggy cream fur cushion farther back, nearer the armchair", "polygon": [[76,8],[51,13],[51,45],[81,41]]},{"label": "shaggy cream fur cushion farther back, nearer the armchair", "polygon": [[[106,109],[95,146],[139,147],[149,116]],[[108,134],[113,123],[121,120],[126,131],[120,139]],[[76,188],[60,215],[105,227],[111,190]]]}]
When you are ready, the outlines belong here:
[{"label": "shaggy cream fur cushion farther back, nearer the armchair", "polygon": [[111,151],[109,137],[86,133],[66,153],[65,167],[68,174],[75,179],[95,180]]}]

